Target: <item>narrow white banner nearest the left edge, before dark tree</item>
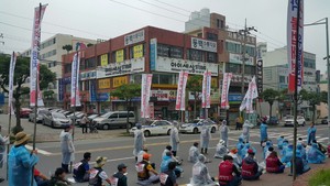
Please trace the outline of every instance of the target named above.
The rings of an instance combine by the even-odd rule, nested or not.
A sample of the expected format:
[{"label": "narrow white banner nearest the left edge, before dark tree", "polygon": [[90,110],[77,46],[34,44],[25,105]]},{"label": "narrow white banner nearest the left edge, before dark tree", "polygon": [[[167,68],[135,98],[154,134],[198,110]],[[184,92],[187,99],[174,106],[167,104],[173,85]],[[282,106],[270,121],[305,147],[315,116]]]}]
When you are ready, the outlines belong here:
[{"label": "narrow white banner nearest the left edge, before dark tree", "polygon": [[9,66],[9,95],[8,95],[8,109],[10,109],[10,113],[14,114],[13,107],[12,107],[12,92],[13,92],[13,78],[14,78],[14,70],[16,64],[16,54],[13,52],[10,58],[10,66]]}]

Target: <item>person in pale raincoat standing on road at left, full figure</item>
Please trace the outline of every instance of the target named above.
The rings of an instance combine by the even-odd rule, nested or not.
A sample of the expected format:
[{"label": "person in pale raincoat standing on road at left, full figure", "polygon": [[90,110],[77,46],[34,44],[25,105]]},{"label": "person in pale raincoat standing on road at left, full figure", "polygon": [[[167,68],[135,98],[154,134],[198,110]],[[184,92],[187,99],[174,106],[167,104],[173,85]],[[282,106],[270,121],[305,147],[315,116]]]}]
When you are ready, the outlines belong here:
[{"label": "person in pale raincoat standing on road at left, full figure", "polygon": [[61,149],[62,149],[62,167],[65,173],[69,173],[68,165],[74,161],[75,146],[73,142],[73,135],[69,132],[72,129],[70,124],[64,125],[64,130],[59,134]]}]

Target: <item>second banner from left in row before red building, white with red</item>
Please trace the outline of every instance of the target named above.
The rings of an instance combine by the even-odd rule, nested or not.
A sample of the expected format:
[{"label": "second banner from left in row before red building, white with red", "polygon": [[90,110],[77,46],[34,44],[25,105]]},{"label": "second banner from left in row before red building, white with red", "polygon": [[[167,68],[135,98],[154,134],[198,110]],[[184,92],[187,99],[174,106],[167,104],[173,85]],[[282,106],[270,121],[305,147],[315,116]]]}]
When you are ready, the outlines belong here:
[{"label": "second banner from left in row before red building, white with red", "polygon": [[180,72],[177,83],[177,95],[175,110],[186,110],[186,86],[187,86],[188,73]]}]

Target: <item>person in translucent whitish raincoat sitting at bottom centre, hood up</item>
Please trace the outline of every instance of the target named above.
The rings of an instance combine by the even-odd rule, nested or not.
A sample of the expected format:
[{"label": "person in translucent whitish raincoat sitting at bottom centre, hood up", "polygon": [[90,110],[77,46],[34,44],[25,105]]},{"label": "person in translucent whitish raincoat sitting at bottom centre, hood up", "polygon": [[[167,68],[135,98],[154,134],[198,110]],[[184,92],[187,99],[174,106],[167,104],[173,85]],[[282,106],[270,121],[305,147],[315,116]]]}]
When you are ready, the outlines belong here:
[{"label": "person in translucent whitish raincoat sitting at bottom centre, hood up", "polygon": [[208,167],[206,166],[206,156],[202,154],[198,155],[198,161],[193,166],[193,177],[190,185],[193,186],[216,186],[215,178],[209,175]]}]

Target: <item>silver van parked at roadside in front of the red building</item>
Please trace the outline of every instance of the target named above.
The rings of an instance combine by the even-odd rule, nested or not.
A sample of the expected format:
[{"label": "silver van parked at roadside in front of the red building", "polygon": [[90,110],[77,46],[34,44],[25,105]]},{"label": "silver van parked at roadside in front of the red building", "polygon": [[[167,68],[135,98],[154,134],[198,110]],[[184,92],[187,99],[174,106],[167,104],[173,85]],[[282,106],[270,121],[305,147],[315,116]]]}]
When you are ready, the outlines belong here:
[{"label": "silver van parked at roadside in front of the red building", "polygon": [[109,130],[110,128],[127,128],[127,120],[129,113],[129,124],[130,128],[135,123],[135,116],[133,111],[111,111],[101,114],[92,120],[98,129]]}]

